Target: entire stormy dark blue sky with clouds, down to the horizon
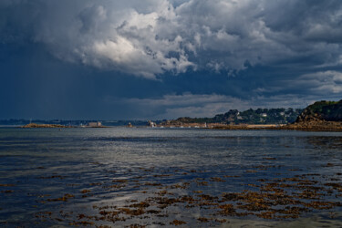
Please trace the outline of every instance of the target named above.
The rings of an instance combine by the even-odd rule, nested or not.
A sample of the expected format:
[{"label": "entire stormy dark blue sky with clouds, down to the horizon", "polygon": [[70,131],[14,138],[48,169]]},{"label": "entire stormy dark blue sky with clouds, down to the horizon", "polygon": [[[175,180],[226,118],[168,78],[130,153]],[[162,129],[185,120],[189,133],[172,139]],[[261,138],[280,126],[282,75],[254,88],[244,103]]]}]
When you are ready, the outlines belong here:
[{"label": "entire stormy dark blue sky with clouds, down to the horizon", "polygon": [[1,0],[0,119],[176,119],[342,99],[340,0]]}]

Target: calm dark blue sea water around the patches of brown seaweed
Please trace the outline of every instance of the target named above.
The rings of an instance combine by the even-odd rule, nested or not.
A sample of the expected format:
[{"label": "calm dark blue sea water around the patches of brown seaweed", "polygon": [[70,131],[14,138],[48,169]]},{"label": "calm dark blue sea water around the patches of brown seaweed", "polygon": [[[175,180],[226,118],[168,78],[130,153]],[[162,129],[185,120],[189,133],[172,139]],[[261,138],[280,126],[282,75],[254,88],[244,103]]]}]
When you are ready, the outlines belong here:
[{"label": "calm dark blue sea water around the patches of brown seaweed", "polygon": [[[262,180],[305,176],[315,181],[311,185],[326,188],[320,189],[318,202],[341,202],[341,168],[340,132],[2,128],[0,226],[159,227],[176,220],[189,227],[340,227],[340,206],[265,219],[252,213],[215,213],[213,203],[165,202],[163,207],[158,197],[214,198],[224,192],[259,191],[255,185]],[[146,213],[128,211],[141,208]],[[110,214],[115,218],[110,221],[106,212],[115,210],[119,214]]]}]

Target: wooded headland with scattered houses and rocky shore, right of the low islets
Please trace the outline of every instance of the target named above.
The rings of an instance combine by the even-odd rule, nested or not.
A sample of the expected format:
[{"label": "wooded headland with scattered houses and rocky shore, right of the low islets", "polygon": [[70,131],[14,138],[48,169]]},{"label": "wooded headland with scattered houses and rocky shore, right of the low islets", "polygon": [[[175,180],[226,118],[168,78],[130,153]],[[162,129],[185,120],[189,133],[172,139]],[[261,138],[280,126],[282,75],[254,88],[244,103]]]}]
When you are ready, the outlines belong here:
[{"label": "wooded headland with scattered houses and rocky shore, right of the low islets", "polygon": [[317,101],[306,109],[231,109],[213,118],[179,118],[162,127],[220,130],[342,130],[342,100]]}]

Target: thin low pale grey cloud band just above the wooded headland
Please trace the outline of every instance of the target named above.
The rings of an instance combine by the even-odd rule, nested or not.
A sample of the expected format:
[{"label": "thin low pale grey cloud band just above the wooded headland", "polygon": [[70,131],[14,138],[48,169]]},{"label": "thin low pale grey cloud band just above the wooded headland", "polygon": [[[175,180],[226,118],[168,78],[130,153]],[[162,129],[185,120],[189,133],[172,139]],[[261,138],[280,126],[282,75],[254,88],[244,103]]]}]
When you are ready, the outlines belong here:
[{"label": "thin low pale grey cloud band just above the wooded headland", "polygon": [[302,109],[316,101],[315,96],[283,95],[276,97],[255,97],[250,100],[218,94],[196,95],[184,93],[169,94],[162,98],[112,98],[106,102],[111,106],[129,109],[130,113],[139,112],[140,119],[177,119],[179,117],[213,117],[229,109]]}]

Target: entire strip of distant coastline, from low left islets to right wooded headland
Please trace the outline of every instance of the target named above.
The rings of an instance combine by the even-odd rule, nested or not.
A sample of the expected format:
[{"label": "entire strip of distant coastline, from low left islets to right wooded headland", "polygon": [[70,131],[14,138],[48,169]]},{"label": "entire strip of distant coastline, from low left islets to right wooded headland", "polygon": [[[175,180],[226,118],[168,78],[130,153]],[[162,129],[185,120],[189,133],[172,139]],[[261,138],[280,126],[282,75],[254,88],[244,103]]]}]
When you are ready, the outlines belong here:
[{"label": "entire strip of distant coastline, from low left islets to right wooded headland", "polygon": [[[213,130],[310,130],[342,131],[342,100],[317,101],[306,109],[236,109],[213,118],[179,118],[171,120],[54,120],[25,123],[26,120],[7,121],[12,126],[28,128],[109,128],[109,127],[151,127],[151,128],[195,128]],[[60,124],[58,124],[59,122]],[[72,124],[71,124],[72,123]],[[113,124],[114,123],[114,124]],[[103,124],[103,125],[102,125]],[[11,125],[4,125],[4,127]]]}]

